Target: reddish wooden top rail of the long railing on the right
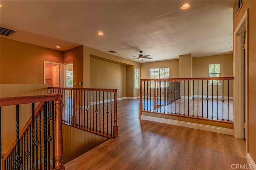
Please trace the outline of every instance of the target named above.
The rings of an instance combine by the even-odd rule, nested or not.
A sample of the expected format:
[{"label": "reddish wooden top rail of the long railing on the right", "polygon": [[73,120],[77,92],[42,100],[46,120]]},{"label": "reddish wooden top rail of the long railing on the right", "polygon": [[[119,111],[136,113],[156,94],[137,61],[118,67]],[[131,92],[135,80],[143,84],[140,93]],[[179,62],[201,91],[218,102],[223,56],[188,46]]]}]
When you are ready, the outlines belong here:
[{"label": "reddish wooden top rail of the long railing on the right", "polygon": [[234,80],[234,77],[204,77],[204,78],[144,78],[141,81],[181,81],[181,80]]}]

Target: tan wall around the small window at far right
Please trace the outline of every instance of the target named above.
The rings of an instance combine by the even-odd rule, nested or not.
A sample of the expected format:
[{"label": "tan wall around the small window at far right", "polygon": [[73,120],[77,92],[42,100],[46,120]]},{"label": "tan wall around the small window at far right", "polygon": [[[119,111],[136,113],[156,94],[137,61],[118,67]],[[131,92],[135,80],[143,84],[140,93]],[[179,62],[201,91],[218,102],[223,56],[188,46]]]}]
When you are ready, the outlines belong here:
[{"label": "tan wall around the small window at far right", "polygon": [[[233,76],[233,54],[215,55],[193,58],[193,78],[209,77],[209,64],[220,64],[220,76]],[[230,80],[229,96],[233,96],[233,80]],[[218,95],[222,96],[222,81],[218,86]],[[207,95],[207,81],[204,80],[204,96]],[[194,91],[197,92],[197,82],[194,82]],[[217,85],[213,85],[214,96],[217,96]],[[202,81],[199,82],[199,95],[202,95]],[[208,84],[208,95],[212,95],[212,85]],[[228,96],[228,80],[224,80],[224,96]]]}]

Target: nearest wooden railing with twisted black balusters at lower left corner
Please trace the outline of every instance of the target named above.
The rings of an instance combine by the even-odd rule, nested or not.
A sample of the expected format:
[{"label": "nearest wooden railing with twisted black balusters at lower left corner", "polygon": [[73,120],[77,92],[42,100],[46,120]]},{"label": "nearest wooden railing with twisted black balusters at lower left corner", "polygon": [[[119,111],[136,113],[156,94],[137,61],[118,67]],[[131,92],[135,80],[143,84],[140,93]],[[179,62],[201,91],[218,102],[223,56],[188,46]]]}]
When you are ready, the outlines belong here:
[{"label": "nearest wooden railing with twisted black balusters at lower left corner", "polygon": [[[2,162],[0,162],[0,167],[2,170],[46,170],[52,168],[64,170],[62,161],[62,95],[48,94],[1,98],[0,100],[1,123],[5,121],[1,119],[2,115],[12,114],[4,112],[2,109],[4,110],[6,106],[16,105],[16,140],[6,154],[2,154],[2,140],[4,139],[2,139],[1,133]],[[37,102],[40,103],[35,109]],[[24,114],[20,113],[22,104],[32,104],[32,116],[20,131],[20,115]],[[50,126],[50,124],[52,125]]]}]

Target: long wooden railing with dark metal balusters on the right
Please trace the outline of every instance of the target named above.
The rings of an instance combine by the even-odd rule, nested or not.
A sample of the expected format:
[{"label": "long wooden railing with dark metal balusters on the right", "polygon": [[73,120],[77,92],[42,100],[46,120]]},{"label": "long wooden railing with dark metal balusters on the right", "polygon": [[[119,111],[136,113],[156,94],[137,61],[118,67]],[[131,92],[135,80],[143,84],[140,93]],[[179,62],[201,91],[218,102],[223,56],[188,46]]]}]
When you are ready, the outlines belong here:
[{"label": "long wooden railing with dark metal balusters on the right", "polygon": [[142,112],[233,123],[233,77],[140,79]]}]

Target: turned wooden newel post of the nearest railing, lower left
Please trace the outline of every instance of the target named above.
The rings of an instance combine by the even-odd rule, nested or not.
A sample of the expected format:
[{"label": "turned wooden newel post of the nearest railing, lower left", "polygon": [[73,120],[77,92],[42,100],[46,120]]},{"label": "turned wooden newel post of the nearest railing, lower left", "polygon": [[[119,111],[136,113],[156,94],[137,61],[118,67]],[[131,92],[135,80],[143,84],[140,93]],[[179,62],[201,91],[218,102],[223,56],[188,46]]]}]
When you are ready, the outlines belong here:
[{"label": "turned wooden newel post of the nearest railing, lower left", "polygon": [[58,99],[55,101],[55,110],[56,110],[56,117],[55,117],[55,145],[54,145],[54,154],[55,154],[55,168],[54,170],[65,170],[63,166],[63,142],[62,142],[62,99]]}]

